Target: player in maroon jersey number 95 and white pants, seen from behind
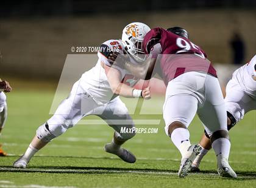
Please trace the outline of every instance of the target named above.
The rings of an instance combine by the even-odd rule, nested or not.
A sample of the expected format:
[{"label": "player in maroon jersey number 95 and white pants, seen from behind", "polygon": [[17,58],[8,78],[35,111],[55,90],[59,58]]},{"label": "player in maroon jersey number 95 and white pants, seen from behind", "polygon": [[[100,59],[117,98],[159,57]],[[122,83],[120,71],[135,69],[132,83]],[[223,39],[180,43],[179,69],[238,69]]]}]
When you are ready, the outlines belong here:
[{"label": "player in maroon jersey number 95 and white pants, seen from behind", "polygon": [[167,87],[163,106],[165,131],[182,155],[178,175],[187,175],[192,161],[202,149],[199,145],[190,144],[187,129],[197,113],[211,137],[219,175],[236,178],[227,161],[230,141],[224,99],[216,71],[206,59],[205,52],[191,42],[188,33],[180,27],[150,30],[144,37],[143,49],[149,55],[143,64],[118,62],[116,54],[110,59],[141,79],[151,78],[154,67],[160,65]]}]

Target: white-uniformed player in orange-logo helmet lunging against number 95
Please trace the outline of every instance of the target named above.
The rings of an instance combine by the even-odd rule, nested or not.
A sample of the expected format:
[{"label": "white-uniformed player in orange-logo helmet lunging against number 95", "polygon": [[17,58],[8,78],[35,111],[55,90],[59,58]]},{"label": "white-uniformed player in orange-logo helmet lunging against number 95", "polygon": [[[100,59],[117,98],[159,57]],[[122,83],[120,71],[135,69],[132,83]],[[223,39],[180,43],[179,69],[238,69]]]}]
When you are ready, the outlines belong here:
[{"label": "white-uniformed player in orange-logo helmet lunging against number 95", "polygon": [[[136,25],[140,30],[140,35],[133,35],[131,25]],[[123,50],[126,49],[128,52],[132,52],[130,53],[133,56],[131,60],[140,60],[136,44],[142,41],[140,38],[144,38],[149,30],[148,25],[134,22],[123,30],[122,39],[129,37],[131,39],[129,44],[121,40],[108,40],[101,45],[101,50],[98,52],[99,59],[95,67],[85,72],[74,84],[70,95],[62,101],[54,116],[38,127],[34,139],[24,155],[15,161],[14,167],[26,168],[27,163],[39,149],[88,115],[101,117],[115,130],[112,143],[105,145],[105,151],[119,156],[127,163],[135,163],[135,156],[121,147],[125,141],[135,135],[135,132],[121,133],[121,127],[131,129],[134,127],[134,123],[119,95],[148,99],[151,94],[148,87],[143,90],[133,88],[138,79],[126,70],[111,66],[108,62],[108,55],[113,51],[123,53]],[[137,61],[133,62],[137,63]]]}]

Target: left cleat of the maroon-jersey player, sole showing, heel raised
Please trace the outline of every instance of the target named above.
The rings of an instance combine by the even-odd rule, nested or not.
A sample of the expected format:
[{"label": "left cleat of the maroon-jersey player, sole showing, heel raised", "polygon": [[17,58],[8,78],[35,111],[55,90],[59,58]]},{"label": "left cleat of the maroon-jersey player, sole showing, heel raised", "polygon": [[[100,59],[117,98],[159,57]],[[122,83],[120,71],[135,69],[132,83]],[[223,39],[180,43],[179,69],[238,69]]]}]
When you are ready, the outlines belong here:
[{"label": "left cleat of the maroon-jersey player, sole showing, heel raised", "polygon": [[180,178],[184,178],[185,176],[188,175],[188,172],[191,169],[191,165],[196,158],[196,156],[200,153],[202,147],[199,145],[191,145],[187,153],[185,154],[185,157],[182,158],[181,163],[180,163],[180,169],[178,172],[178,175]]}]

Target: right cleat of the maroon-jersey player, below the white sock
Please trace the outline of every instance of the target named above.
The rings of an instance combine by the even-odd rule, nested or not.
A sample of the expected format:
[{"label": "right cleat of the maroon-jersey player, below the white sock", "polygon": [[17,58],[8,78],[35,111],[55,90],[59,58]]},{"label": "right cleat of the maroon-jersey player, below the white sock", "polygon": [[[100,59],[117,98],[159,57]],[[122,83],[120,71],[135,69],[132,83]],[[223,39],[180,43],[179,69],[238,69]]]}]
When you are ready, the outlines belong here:
[{"label": "right cleat of the maroon-jersey player, below the white sock", "polygon": [[227,161],[227,159],[224,156],[219,154],[217,156],[217,159],[218,159],[217,172],[219,175],[221,175],[223,177],[227,177],[227,178],[236,178],[237,177],[235,171],[230,167],[229,162]]}]

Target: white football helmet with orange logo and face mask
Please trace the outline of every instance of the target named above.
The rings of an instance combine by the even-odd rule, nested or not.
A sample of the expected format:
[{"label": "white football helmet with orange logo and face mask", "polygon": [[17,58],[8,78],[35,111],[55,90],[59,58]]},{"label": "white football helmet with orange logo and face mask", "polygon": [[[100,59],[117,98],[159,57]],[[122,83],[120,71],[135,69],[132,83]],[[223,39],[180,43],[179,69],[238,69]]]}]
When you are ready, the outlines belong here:
[{"label": "white football helmet with orange logo and face mask", "polygon": [[141,22],[132,22],[123,29],[123,44],[130,55],[139,62],[142,62],[146,57],[143,52],[143,39],[149,30],[151,29],[148,25]]}]

